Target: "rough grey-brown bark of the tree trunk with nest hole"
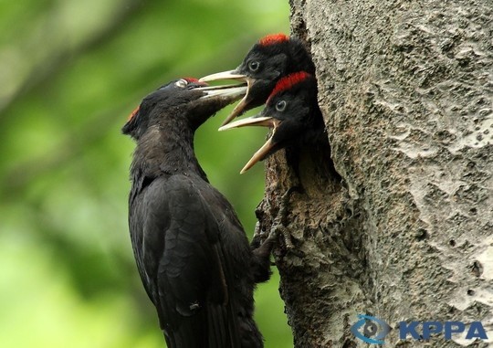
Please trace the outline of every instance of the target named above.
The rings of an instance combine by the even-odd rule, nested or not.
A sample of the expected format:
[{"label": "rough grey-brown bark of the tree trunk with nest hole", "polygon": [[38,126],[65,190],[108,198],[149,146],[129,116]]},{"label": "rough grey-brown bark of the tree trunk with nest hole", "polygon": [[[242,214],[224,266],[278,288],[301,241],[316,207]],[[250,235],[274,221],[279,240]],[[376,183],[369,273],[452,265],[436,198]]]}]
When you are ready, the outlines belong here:
[{"label": "rough grey-brown bark of the tree trunk with nest hole", "polygon": [[[493,3],[292,0],[342,180],[305,149],[275,259],[296,347],[367,346],[356,314],[481,321],[493,339]],[[260,228],[299,185],[266,163]],[[456,347],[463,335],[385,346]],[[472,346],[488,346],[477,342]]]}]

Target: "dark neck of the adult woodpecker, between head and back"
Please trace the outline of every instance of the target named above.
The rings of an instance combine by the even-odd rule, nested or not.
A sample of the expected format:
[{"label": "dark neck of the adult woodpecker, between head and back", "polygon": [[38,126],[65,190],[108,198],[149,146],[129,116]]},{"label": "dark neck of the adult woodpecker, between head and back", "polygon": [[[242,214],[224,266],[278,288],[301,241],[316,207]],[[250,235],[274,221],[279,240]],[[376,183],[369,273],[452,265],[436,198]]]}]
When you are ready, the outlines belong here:
[{"label": "dark neck of the adult woodpecker, between head and back", "polygon": [[188,127],[151,126],[137,143],[132,170],[152,177],[198,174],[207,181],[194,153],[194,132]]}]

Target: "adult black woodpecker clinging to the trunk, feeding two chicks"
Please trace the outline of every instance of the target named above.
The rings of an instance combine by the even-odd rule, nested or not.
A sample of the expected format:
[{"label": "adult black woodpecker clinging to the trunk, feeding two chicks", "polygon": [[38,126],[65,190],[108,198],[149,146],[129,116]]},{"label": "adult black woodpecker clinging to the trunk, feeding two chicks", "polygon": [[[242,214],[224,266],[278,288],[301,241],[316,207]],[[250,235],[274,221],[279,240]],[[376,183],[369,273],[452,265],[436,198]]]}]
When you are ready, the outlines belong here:
[{"label": "adult black woodpecker clinging to the trunk, feeding two chicks", "polygon": [[145,97],[122,128],[137,142],[131,244],[170,348],[263,346],[253,291],[268,279],[270,250],[252,251],[194,154],[195,130],[245,92],[178,79]]}]

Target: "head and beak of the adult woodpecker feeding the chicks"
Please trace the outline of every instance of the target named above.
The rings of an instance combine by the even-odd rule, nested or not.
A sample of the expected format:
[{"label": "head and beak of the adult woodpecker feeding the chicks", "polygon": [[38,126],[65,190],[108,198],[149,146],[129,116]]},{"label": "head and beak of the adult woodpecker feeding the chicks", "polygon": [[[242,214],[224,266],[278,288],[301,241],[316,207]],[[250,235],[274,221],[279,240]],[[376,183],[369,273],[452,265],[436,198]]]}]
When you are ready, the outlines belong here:
[{"label": "head and beak of the adult woodpecker feeding the chicks", "polygon": [[209,87],[198,79],[176,79],[145,97],[131,112],[121,131],[138,140],[163,118],[174,118],[194,132],[216,111],[240,99],[246,92],[245,86]]}]

